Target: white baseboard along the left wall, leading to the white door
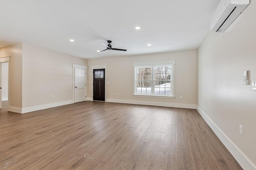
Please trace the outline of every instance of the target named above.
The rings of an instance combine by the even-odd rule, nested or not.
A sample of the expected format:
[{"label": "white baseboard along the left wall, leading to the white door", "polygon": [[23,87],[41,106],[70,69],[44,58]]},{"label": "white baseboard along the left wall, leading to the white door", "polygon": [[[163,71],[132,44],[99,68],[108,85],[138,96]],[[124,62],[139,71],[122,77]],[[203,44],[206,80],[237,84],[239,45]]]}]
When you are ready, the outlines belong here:
[{"label": "white baseboard along the left wall, leading to the white door", "polygon": [[28,113],[28,112],[31,112],[31,111],[48,109],[48,108],[51,108],[51,107],[63,106],[63,105],[66,105],[66,104],[73,104],[73,103],[74,103],[73,100],[67,100],[67,101],[64,101],[64,102],[57,102],[57,103],[44,104],[44,105],[39,105],[39,106],[25,107],[25,108],[22,108],[22,113]]}]

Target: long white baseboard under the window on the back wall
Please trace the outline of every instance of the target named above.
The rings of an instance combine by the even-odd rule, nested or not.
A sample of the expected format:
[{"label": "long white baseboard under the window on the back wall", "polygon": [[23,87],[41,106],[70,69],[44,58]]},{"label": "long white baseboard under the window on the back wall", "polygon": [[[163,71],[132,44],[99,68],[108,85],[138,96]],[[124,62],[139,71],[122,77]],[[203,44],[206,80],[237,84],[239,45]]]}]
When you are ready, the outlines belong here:
[{"label": "long white baseboard under the window on the back wall", "polygon": [[168,102],[148,102],[148,101],[139,101],[139,100],[119,100],[119,99],[106,99],[106,102],[196,109],[196,105],[194,105],[194,104],[181,104],[181,103],[168,103]]}]

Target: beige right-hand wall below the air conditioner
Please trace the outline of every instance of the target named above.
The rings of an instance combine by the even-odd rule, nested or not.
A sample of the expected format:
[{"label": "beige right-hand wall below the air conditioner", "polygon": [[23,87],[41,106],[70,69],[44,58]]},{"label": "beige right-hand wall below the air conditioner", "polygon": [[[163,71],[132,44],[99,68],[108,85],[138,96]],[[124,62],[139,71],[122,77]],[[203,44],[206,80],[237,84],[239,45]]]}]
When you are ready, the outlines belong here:
[{"label": "beige right-hand wall below the air conditioner", "polygon": [[[256,165],[256,1],[224,33],[210,32],[198,48],[198,106]],[[250,70],[250,85],[243,85]],[[203,105],[204,102],[204,105]],[[239,125],[244,135],[239,134]]]}]

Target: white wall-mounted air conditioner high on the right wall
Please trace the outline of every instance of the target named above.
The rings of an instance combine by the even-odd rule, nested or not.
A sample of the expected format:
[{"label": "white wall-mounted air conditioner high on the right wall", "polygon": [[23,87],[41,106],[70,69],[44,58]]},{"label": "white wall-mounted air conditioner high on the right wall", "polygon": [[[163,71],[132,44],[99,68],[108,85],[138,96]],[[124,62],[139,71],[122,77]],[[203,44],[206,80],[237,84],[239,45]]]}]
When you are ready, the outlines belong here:
[{"label": "white wall-mounted air conditioner high on the right wall", "polygon": [[211,20],[211,31],[223,33],[250,4],[250,0],[221,0]]}]

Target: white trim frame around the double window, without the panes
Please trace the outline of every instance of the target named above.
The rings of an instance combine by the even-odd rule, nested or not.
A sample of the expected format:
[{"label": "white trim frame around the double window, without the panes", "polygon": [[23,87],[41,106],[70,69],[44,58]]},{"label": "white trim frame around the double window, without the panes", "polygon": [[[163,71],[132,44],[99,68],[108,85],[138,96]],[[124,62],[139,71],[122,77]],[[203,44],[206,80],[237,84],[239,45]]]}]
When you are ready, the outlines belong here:
[{"label": "white trim frame around the double window, without the panes", "polygon": [[[136,78],[136,67],[137,66],[164,66],[164,65],[172,65],[172,95],[168,96],[168,95],[152,95],[152,94],[135,94],[135,88],[136,88],[136,84],[135,84],[135,78]],[[172,61],[154,61],[154,62],[143,62],[143,63],[132,63],[133,68],[133,96],[134,97],[144,97],[144,98],[169,98],[169,99],[173,99],[175,98],[174,96],[174,80],[175,80],[175,60]]]}]

